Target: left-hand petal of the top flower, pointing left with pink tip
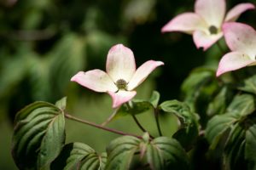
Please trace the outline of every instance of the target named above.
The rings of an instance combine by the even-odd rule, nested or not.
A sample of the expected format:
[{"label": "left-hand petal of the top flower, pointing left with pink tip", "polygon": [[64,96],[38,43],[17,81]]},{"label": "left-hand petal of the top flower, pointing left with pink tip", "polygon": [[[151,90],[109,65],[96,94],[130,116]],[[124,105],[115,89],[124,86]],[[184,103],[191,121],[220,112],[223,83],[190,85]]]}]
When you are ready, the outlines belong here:
[{"label": "left-hand petal of the top flower, pointing left with pink tip", "polygon": [[178,14],[162,28],[162,32],[182,31],[191,34],[195,30],[206,30],[206,22],[195,13]]}]

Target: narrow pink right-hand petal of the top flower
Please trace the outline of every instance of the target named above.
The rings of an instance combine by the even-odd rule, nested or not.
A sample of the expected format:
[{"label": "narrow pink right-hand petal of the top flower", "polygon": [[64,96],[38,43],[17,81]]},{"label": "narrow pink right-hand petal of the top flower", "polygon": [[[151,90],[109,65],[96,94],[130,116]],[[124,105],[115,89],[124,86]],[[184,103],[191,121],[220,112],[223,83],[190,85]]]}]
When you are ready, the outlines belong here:
[{"label": "narrow pink right-hand petal of the top flower", "polygon": [[247,11],[248,9],[255,8],[252,3],[240,3],[234,8],[231,8],[228,14],[226,15],[225,21],[235,21],[241,15],[241,13]]}]

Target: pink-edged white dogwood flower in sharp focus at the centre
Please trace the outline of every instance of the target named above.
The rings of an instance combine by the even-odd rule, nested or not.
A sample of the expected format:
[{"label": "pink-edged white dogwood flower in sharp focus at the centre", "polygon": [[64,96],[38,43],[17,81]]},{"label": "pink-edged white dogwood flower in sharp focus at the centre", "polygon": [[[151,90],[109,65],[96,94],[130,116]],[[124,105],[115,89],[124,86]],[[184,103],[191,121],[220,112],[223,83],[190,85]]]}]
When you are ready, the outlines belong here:
[{"label": "pink-edged white dogwood flower in sharp focus at the centre", "polygon": [[107,72],[98,69],[79,71],[71,81],[96,92],[108,93],[113,99],[113,108],[116,108],[131,100],[137,94],[134,88],[137,88],[160,65],[164,63],[148,60],[136,70],[131,49],[117,44],[108,51]]}]

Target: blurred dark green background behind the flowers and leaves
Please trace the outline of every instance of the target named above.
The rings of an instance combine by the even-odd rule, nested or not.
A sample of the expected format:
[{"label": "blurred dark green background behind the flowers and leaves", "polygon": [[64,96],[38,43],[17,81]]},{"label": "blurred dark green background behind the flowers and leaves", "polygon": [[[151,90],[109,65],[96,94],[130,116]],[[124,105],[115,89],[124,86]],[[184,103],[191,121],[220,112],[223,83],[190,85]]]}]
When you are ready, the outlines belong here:
[{"label": "blurred dark green background behind the flowers and leaves", "polygon": [[[256,3],[255,0],[247,2]],[[148,99],[153,90],[160,101],[181,99],[180,85],[197,66],[217,68],[218,46],[203,52],[183,33],[162,34],[175,15],[193,11],[194,0],[0,0],[0,169],[16,169],[11,157],[15,114],[36,100],[54,103],[67,96],[70,114],[102,123],[113,113],[108,94],[97,94],[70,82],[78,71],[105,70],[108,49],[123,43],[131,48],[137,66],[148,59],[159,67],[137,88],[136,99]],[[245,1],[227,0],[227,8]],[[256,27],[255,11],[238,21]],[[224,41],[221,40],[224,49]],[[157,135],[151,111],[138,116]],[[172,136],[177,120],[161,116],[164,134]],[[142,134],[130,116],[108,127]],[[67,120],[67,143],[79,141],[102,152],[118,135]]]}]

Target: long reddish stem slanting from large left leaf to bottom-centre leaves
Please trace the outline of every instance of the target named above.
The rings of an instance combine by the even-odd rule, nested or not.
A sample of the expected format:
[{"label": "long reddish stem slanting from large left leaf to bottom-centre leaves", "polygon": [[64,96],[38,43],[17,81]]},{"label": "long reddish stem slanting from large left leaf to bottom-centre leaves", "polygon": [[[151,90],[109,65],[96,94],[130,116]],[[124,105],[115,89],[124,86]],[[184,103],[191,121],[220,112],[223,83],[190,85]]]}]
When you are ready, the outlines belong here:
[{"label": "long reddish stem slanting from large left leaf to bottom-centre leaves", "polygon": [[117,134],[120,134],[120,135],[129,135],[129,136],[134,136],[134,137],[137,137],[138,139],[143,139],[141,136],[137,136],[135,134],[131,134],[131,133],[124,133],[122,131],[119,131],[119,130],[115,130],[113,128],[108,128],[108,127],[102,127],[101,125],[98,125],[94,122],[89,122],[89,121],[86,121],[86,120],[83,120],[83,119],[80,119],[78,117],[75,117],[75,116],[71,116],[67,113],[65,113],[65,117],[67,119],[70,119],[70,120],[73,120],[73,121],[76,121],[76,122],[82,122],[84,124],[87,124],[87,125],[90,125],[91,127],[96,127],[96,128],[100,128],[102,130],[105,130],[105,131],[108,131],[108,132],[111,132],[111,133],[117,133]]}]

